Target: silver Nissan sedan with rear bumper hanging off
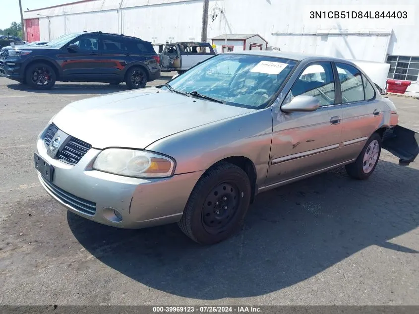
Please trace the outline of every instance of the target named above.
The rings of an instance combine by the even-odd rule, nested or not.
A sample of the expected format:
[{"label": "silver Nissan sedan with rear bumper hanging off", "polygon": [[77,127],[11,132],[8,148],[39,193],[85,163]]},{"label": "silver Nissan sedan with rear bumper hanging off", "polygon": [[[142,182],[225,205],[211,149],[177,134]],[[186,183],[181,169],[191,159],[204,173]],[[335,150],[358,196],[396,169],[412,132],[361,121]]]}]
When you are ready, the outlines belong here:
[{"label": "silver Nissan sedan with rear bumper hanging off", "polygon": [[45,190],[98,223],[177,222],[214,244],[255,195],[345,166],[367,179],[385,148],[408,165],[418,133],[342,59],[278,52],[214,56],[167,84],[73,102],[39,134]]}]

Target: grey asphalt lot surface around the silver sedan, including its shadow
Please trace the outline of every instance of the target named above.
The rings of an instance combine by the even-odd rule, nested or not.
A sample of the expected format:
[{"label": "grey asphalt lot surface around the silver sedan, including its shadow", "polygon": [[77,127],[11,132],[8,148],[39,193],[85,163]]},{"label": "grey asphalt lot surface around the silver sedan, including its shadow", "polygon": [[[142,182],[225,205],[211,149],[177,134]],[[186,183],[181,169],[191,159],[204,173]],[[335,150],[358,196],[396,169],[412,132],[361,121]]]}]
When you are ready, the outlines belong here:
[{"label": "grey asphalt lot surface around the silver sedan, including its shadow", "polygon": [[[419,161],[386,151],[365,182],[338,169],[259,194],[243,230],[212,247],[176,225],[120,230],[67,212],[38,183],[36,136],[68,103],[125,89],[0,78],[0,304],[419,304]],[[390,97],[419,130],[419,100]]]}]

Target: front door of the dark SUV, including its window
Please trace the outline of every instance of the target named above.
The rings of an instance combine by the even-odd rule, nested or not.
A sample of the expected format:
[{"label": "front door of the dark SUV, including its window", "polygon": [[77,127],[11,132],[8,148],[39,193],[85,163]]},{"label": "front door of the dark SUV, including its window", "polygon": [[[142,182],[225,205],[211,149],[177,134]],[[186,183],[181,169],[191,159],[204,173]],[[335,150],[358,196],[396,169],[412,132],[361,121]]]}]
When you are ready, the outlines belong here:
[{"label": "front door of the dark SUV, including its window", "polygon": [[[67,50],[70,44],[78,46],[75,50]],[[60,54],[62,73],[64,78],[69,80],[92,79],[103,74],[101,66],[101,51],[99,36],[82,35],[67,44],[65,52]]]}]

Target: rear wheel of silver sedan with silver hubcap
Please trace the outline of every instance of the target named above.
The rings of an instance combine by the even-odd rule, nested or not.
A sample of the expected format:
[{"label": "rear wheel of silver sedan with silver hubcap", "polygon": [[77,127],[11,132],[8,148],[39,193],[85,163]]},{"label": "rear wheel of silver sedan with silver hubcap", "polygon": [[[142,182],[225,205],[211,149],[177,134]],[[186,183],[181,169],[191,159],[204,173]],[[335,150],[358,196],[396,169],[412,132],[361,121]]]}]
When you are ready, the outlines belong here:
[{"label": "rear wheel of silver sedan with silver hubcap", "polygon": [[354,179],[365,180],[374,172],[381,154],[381,136],[373,133],[365,143],[357,160],[345,166],[348,175]]}]

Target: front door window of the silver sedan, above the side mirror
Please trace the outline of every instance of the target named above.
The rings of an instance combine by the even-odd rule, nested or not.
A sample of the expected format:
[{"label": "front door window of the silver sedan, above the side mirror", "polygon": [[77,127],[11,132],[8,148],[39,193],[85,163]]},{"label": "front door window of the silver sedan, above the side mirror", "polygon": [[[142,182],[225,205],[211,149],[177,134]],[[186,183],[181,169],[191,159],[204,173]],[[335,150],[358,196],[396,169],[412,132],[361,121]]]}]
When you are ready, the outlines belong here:
[{"label": "front door window of the silver sedan, above the side mirror", "polygon": [[285,102],[299,95],[317,98],[320,106],[335,104],[335,81],[331,64],[322,62],[308,65],[287,94]]}]

